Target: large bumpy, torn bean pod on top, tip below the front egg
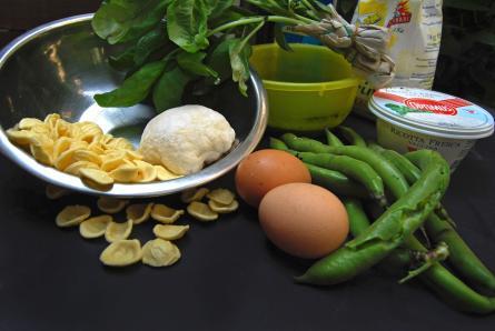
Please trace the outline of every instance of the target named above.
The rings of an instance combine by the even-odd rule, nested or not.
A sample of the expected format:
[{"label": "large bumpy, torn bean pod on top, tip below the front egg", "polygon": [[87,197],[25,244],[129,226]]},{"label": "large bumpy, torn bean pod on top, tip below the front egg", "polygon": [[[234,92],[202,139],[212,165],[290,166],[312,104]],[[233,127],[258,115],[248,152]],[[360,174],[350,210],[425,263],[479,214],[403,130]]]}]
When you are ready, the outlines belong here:
[{"label": "large bumpy, torn bean pod on top, tip below the front egg", "polygon": [[[420,151],[423,152],[423,151]],[[420,179],[364,233],[296,278],[311,284],[335,284],[372,268],[405,243],[442,199],[449,181],[447,162],[436,152],[422,153]]]}]

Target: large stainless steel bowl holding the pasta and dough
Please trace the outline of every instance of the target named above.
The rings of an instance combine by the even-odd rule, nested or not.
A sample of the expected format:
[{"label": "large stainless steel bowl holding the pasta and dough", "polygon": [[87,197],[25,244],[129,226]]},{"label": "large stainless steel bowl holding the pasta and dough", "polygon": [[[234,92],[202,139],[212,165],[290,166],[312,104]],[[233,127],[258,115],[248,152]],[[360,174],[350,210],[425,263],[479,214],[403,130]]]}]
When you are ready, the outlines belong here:
[{"label": "large stainless steel bowl holding the pasta and dough", "polygon": [[13,146],[6,129],[26,117],[43,119],[58,112],[68,121],[97,122],[106,132],[138,143],[146,122],[155,116],[146,104],[131,108],[100,108],[96,93],[109,91],[122,81],[122,73],[108,66],[111,49],[91,30],[92,14],[53,21],[22,34],[0,51],[0,150],[38,178],[70,190],[121,198],[175,193],[205,184],[231,170],[260,141],[267,123],[267,98],[260,79],[251,72],[249,98],[234,83],[226,83],[207,97],[190,97],[221,112],[236,130],[239,144],[200,172],[180,179],[146,184],[115,184],[110,191],[95,191],[79,178],[44,167]]}]

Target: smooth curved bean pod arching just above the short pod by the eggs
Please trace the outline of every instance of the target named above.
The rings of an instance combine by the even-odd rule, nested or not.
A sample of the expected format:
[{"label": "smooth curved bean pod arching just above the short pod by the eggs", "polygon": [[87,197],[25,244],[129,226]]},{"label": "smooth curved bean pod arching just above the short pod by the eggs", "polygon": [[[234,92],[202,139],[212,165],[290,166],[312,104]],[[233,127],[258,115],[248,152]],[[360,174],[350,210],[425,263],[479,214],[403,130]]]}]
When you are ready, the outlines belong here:
[{"label": "smooth curved bean pod arching just above the short pod by the eggs", "polygon": [[298,157],[305,163],[335,170],[362,183],[368,191],[372,199],[378,201],[380,205],[386,205],[387,200],[384,192],[382,178],[367,163],[346,157],[333,156],[329,153],[300,152]]}]

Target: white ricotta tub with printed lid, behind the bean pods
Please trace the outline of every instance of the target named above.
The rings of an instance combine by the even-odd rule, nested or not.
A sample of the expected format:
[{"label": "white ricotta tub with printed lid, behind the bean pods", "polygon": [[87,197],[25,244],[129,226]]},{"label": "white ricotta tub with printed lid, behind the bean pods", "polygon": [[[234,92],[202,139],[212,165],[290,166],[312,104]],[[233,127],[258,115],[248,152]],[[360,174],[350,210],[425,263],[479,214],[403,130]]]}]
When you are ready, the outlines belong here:
[{"label": "white ricotta tub with printed lid, behind the bean pods", "polygon": [[368,103],[377,117],[378,143],[406,153],[438,151],[454,171],[477,139],[494,132],[494,119],[483,108],[445,93],[412,89],[377,90]]}]

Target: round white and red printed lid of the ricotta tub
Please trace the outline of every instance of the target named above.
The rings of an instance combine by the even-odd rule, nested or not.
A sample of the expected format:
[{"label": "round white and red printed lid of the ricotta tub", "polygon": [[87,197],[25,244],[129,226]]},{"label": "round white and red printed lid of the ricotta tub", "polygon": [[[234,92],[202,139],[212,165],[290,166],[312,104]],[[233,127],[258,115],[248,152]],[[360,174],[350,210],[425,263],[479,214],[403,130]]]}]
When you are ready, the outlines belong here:
[{"label": "round white and red printed lid of the ricotta tub", "polygon": [[369,100],[368,108],[392,124],[435,137],[479,139],[494,132],[494,119],[485,109],[429,90],[379,89]]}]

